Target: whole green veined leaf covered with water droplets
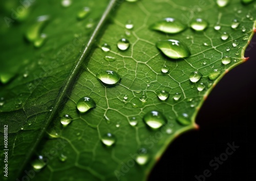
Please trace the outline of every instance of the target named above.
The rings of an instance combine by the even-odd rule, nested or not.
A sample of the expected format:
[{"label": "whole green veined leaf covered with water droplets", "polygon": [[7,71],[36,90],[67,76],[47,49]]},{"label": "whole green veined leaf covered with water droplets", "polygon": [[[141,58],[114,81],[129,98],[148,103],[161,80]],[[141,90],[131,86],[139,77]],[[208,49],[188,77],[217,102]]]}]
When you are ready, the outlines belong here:
[{"label": "whole green veined leaf covered with water droplets", "polygon": [[[197,112],[214,85],[247,60],[255,5],[96,0],[69,7],[38,1],[25,8],[1,2],[0,118],[2,138],[8,125],[8,180],[145,180],[170,142],[198,127]],[[12,17],[21,6],[25,12]],[[49,15],[44,24],[36,20],[42,15]],[[149,28],[167,17],[193,29],[165,34]],[[200,22],[204,31],[197,31]],[[127,50],[117,47],[120,39]],[[168,39],[183,42],[191,56],[162,54],[156,43]],[[104,43],[110,51],[101,50]],[[223,63],[225,56],[230,63]],[[112,85],[105,71],[116,73]],[[82,104],[89,109],[84,113],[77,109],[81,98],[91,100]]]}]

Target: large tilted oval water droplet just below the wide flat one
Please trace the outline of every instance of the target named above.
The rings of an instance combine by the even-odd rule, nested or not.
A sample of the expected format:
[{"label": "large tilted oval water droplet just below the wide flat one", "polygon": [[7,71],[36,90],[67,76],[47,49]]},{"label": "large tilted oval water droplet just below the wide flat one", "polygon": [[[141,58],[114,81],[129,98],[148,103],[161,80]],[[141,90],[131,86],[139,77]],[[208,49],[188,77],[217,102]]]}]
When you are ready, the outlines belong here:
[{"label": "large tilted oval water droplet just below the wide flat one", "polygon": [[178,40],[168,39],[164,41],[158,41],[156,46],[163,52],[164,55],[169,58],[179,59],[189,57],[191,55],[186,44]]}]

